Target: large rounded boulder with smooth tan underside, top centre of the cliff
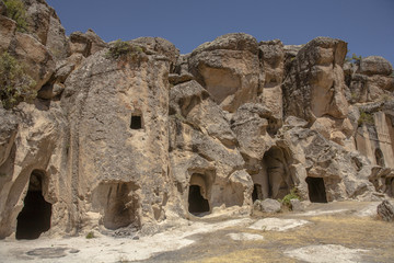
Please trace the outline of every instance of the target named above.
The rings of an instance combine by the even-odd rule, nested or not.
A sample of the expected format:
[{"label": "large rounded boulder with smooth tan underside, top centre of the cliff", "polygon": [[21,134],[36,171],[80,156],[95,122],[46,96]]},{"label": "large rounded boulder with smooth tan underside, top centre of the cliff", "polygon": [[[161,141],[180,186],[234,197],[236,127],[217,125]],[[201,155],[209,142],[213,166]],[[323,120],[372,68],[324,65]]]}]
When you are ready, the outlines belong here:
[{"label": "large rounded boulder with smooth tan underside, top centre of the cliff", "polygon": [[235,112],[257,96],[259,62],[257,41],[247,34],[228,34],[197,47],[189,70],[225,111]]}]

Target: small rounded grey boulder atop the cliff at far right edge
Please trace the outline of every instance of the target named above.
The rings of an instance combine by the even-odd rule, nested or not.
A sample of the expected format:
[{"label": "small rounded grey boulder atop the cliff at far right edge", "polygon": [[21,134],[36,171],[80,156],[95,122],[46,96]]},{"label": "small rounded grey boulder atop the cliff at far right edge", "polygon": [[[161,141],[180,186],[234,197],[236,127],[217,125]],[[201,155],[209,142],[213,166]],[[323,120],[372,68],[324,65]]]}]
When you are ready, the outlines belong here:
[{"label": "small rounded grey boulder atop the cliff at far right edge", "polygon": [[369,56],[360,61],[360,73],[372,76],[390,76],[393,72],[393,66],[383,57]]}]

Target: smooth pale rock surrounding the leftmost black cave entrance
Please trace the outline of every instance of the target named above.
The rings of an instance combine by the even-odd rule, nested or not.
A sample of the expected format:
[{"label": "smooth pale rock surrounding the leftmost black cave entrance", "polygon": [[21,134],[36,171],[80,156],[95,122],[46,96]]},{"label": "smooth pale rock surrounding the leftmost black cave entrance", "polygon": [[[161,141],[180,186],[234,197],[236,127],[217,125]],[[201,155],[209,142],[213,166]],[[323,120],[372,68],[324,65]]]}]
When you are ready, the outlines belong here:
[{"label": "smooth pale rock surrounding the leftmost black cave entrance", "polygon": [[[15,231],[15,221],[23,208],[31,174],[43,174],[42,193],[46,202],[53,204],[51,226],[54,230],[69,227],[63,214],[68,190],[61,185],[66,174],[66,119],[60,107],[43,112],[34,105],[21,104],[18,114],[19,125],[12,150],[0,167],[2,187],[0,195],[0,236],[7,237]],[[7,117],[7,116],[5,116]],[[7,121],[7,118],[5,118]],[[10,141],[11,142],[11,141]]]}]

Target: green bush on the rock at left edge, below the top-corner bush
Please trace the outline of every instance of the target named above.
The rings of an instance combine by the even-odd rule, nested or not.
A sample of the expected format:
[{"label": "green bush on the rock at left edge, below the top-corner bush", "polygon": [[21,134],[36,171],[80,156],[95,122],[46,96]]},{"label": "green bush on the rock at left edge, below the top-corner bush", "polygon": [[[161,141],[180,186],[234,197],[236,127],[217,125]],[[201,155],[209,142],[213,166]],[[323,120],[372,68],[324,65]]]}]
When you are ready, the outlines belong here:
[{"label": "green bush on the rock at left edge, below the top-corner bush", "polygon": [[36,92],[32,88],[35,84],[13,56],[7,52],[0,56],[0,99],[5,108],[34,100]]}]

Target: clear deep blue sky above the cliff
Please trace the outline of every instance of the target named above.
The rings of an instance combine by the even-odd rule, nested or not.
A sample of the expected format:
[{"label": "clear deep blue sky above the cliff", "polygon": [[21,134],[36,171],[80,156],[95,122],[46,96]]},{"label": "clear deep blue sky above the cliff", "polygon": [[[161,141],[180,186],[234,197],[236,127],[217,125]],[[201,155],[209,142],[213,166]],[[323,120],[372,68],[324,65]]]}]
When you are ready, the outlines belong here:
[{"label": "clear deep blue sky above the cliff", "polygon": [[104,41],[160,36],[189,53],[217,36],[305,44],[316,36],[394,65],[394,0],[47,0],[67,34],[92,28]]}]

